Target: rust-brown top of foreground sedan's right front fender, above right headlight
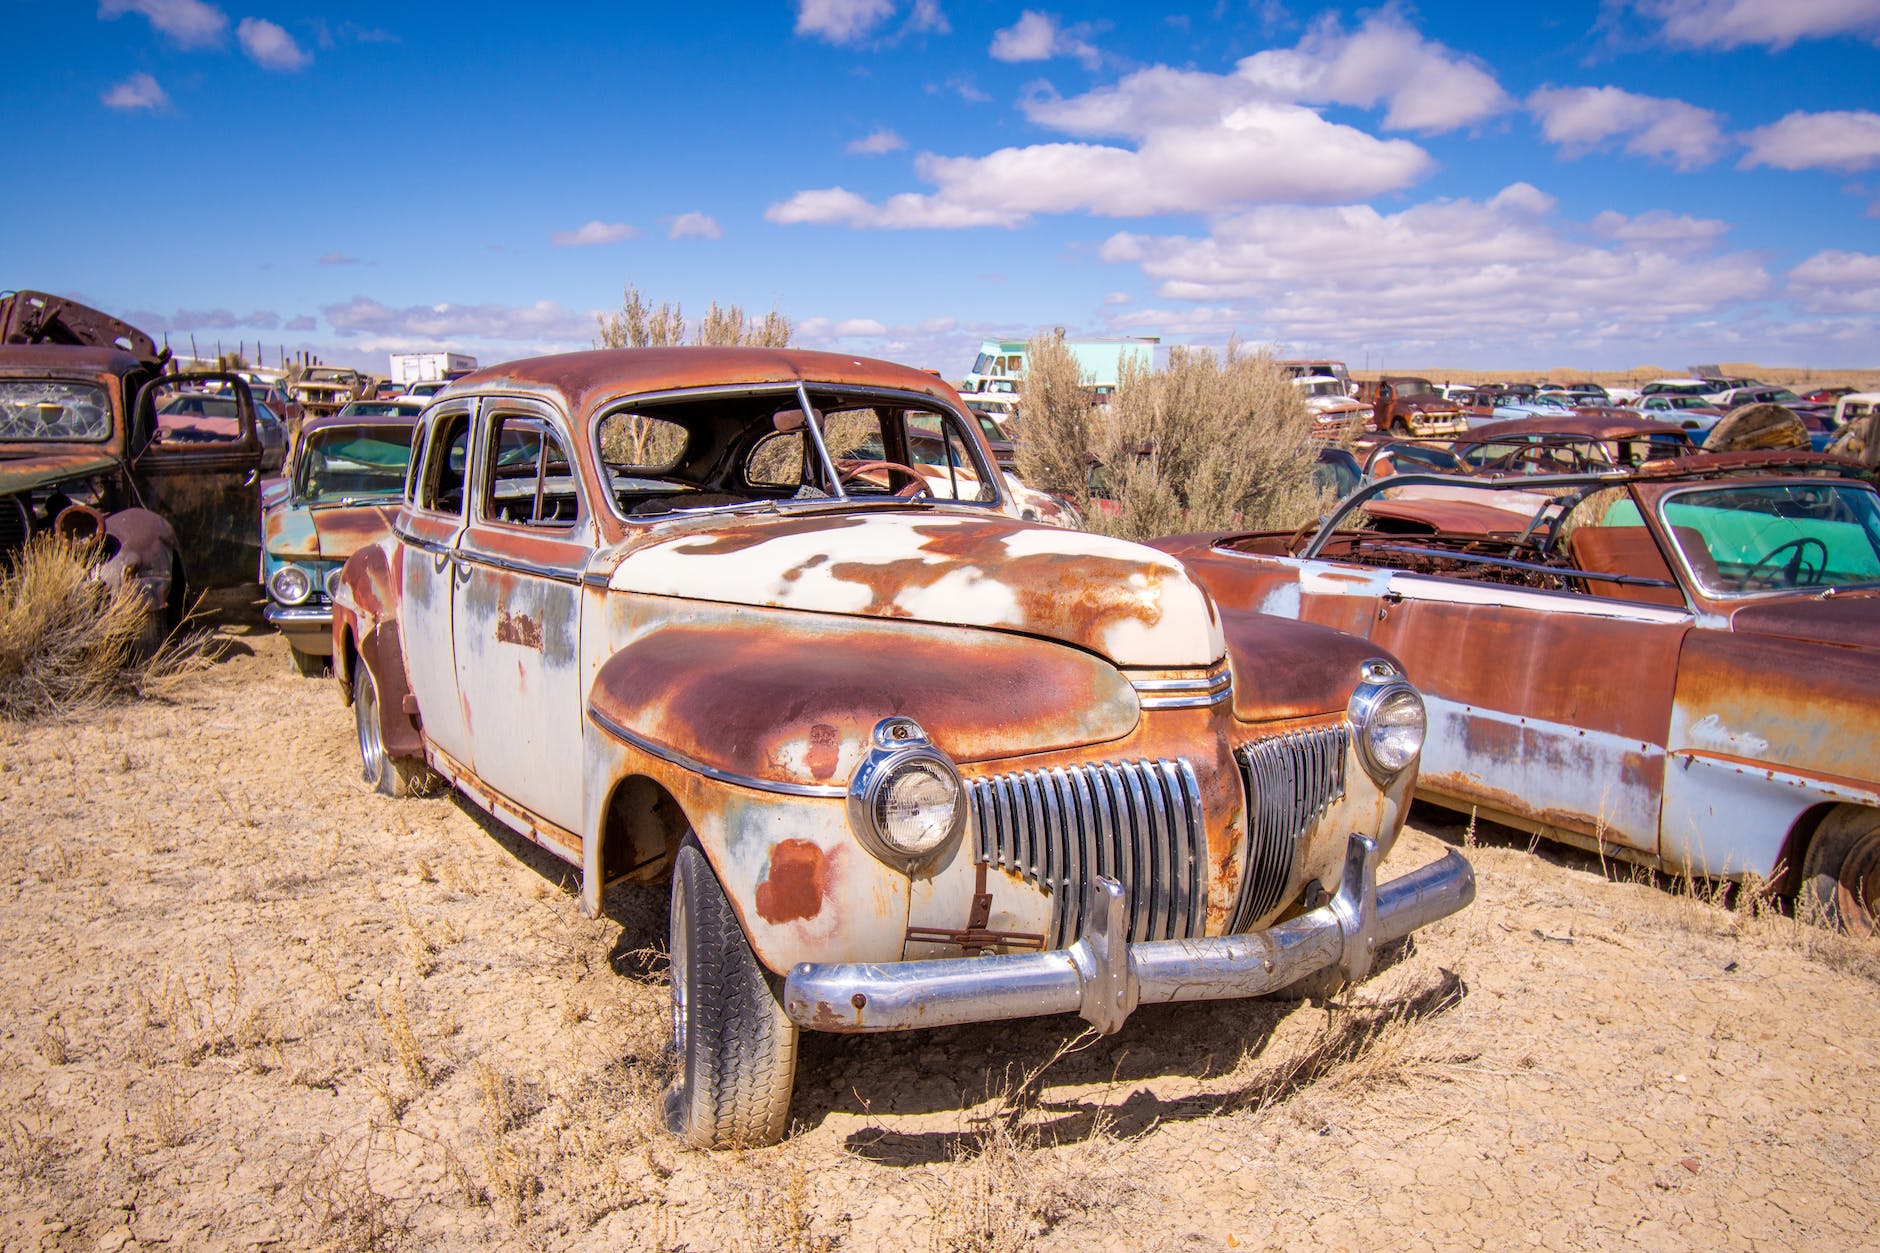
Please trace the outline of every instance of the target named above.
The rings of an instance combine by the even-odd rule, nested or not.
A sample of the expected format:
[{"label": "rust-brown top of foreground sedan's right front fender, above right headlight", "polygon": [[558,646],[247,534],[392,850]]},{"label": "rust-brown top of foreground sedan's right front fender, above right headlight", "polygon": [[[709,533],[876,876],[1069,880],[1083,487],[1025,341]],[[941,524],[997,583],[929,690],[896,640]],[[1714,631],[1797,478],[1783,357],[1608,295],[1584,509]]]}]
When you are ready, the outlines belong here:
[{"label": "rust-brown top of foreground sedan's right front fender, above right headlight", "polygon": [[[1233,717],[1243,722],[1305,719],[1344,709],[1372,657],[1402,666],[1371,640],[1318,623],[1220,610],[1233,664]],[[1410,675],[1416,681],[1416,675]]]}]

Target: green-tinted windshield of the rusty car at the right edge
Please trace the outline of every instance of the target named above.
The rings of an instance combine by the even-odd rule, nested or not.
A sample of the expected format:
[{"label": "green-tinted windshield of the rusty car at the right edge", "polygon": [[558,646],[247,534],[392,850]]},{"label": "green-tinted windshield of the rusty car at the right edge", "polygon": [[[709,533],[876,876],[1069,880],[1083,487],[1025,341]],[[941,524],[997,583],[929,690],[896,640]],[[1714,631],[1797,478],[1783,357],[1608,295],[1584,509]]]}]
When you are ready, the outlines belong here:
[{"label": "green-tinted windshield of the rusty car at the right edge", "polygon": [[1880,495],[1867,487],[1707,487],[1669,497],[1662,515],[1711,595],[1880,583]]}]

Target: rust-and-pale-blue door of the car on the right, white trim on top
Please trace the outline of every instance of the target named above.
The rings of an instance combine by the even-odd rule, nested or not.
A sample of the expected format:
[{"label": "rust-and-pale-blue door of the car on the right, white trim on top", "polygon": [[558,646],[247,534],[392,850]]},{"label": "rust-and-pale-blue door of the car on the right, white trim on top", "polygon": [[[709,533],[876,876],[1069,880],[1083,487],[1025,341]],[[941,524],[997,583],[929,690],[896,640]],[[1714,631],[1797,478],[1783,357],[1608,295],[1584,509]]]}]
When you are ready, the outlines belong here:
[{"label": "rust-and-pale-blue door of the car on the right, white trim on top", "polygon": [[1654,850],[1688,628],[1679,610],[1393,576],[1371,638],[1431,706],[1427,790]]}]

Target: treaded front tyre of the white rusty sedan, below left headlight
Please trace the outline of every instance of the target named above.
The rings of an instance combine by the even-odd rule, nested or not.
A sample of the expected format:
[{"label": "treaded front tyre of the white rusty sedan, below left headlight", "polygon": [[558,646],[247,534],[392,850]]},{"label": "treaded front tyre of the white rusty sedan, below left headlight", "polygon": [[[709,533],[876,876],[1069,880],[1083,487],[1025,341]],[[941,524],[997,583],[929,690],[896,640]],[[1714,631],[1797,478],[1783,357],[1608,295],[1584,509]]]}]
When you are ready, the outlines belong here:
[{"label": "treaded front tyre of the white rusty sedan, below left headlight", "polygon": [[673,1052],[666,1125],[697,1148],[784,1138],[797,1076],[797,1027],[697,841],[673,865]]}]

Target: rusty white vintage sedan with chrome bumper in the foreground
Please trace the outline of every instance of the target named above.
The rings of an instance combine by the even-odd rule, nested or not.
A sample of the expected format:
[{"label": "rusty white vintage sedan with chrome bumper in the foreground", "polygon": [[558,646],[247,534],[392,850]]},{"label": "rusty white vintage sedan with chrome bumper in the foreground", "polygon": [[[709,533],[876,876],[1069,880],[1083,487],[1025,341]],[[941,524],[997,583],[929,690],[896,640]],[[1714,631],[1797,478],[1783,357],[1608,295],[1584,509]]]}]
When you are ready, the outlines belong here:
[{"label": "rusty white vintage sedan with chrome bumper in the foreground", "polygon": [[1455,854],[1378,882],[1423,738],[1387,651],[1002,514],[927,373],[541,357],[459,380],[414,448],[335,593],[365,777],[442,775],[588,911],[671,880],[696,1144],[784,1133],[799,1029],[1115,1031],[1361,978],[1472,897]]}]

